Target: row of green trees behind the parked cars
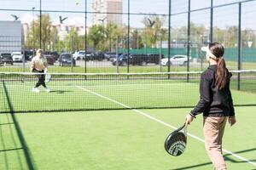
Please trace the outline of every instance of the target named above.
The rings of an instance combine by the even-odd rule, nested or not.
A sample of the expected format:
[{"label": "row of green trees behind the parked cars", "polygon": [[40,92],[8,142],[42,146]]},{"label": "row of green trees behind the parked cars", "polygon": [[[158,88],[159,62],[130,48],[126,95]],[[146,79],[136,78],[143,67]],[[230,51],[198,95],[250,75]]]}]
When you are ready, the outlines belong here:
[{"label": "row of green trees behind the parked cars", "polygon": [[[79,36],[78,31],[73,27],[67,32],[67,37],[61,40],[56,26],[53,26],[49,14],[41,16],[41,44],[43,50],[52,51],[76,51],[84,49],[85,36]],[[149,21],[150,20],[150,21]],[[29,31],[25,35],[26,42],[24,48],[32,49],[34,42],[35,48],[39,48],[39,15],[29,26]],[[130,48],[154,48],[157,41],[168,40],[168,28],[164,26],[166,17],[149,15],[144,17],[144,28],[130,28]],[[154,24],[152,24],[154,22]],[[188,27],[186,25],[171,28],[171,41],[186,42]],[[34,35],[34,36],[33,36]],[[114,23],[107,25],[94,25],[89,27],[87,36],[87,47],[94,51],[115,51],[117,47],[128,48],[128,27],[117,26]],[[255,31],[245,29],[241,31],[241,47],[248,48],[252,42],[251,48],[256,48]],[[213,27],[213,41],[221,42],[225,48],[237,48],[238,46],[238,27],[227,26],[225,28]],[[209,40],[209,28],[204,25],[190,23],[190,41],[200,51],[201,45]],[[117,44],[118,43],[118,44]]]}]

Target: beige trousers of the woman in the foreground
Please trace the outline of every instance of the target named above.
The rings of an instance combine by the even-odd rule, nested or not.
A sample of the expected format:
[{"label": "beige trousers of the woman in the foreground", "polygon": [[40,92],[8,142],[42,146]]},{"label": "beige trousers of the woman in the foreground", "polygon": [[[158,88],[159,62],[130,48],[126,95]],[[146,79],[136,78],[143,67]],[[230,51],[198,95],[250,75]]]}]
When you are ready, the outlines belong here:
[{"label": "beige trousers of the woman in the foreground", "polygon": [[226,169],[226,164],[222,155],[222,138],[227,119],[227,116],[204,116],[203,120],[206,150],[214,169],[216,170]]}]

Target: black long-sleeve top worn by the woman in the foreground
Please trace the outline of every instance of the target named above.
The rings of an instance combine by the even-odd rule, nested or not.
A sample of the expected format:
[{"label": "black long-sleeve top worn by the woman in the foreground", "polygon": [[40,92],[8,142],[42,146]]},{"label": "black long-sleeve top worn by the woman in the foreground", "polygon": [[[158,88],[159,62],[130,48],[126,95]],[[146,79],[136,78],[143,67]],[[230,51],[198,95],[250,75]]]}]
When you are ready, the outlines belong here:
[{"label": "black long-sleeve top worn by the woman in the foreground", "polygon": [[215,86],[216,70],[217,65],[210,65],[207,71],[201,74],[200,100],[191,111],[193,116],[201,112],[203,112],[203,116],[235,116],[230,82],[218,90]]}]

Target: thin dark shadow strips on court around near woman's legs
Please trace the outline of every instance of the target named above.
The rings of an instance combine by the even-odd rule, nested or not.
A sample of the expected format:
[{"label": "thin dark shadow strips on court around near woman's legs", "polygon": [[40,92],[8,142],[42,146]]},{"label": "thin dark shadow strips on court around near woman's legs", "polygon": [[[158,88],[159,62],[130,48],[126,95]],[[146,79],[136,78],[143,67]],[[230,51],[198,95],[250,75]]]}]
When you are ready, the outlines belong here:
[{"label": "thin dark shadow strips on court around near woman's legs", "polygon": [[[241,151],[236,151],[233,152],[234,154],[240,154],[240,153],[244,153],[244,152],[249,152],[249,151],[253,151],[256,150],[256,148],[253,149],[249,149],[249,150],[241,150]],[[231,161],[232,163],[245,163],[247,161],[237,161],[233,158],[230,158],[229,156],[232,156],[231,154],[225,154],[224,155],[224,160],[225,161]],[[256,160],[248,160],[248,161],[256,161]],[[178,168],[174,168],[174,169],[170,169],[170,170],[183,170],[183,169],[190,169],[190,168],[196,168],[196,167],[203,167],[203,166],[207,166],[207,165],[211,165],[212,161],[206,162],[206,163],[201,163],[201,164],[196,164],[196,165],[192,165],[192,166],[188,166],[188,167],[178,167]],[[254,169],[256,170],[256,169]]]}]

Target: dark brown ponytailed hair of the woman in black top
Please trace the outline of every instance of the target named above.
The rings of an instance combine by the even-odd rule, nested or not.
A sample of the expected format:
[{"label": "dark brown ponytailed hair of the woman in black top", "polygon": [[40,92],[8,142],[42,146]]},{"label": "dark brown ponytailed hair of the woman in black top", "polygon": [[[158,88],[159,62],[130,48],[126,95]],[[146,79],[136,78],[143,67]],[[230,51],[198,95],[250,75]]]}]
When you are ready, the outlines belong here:
[{"label": "dark brown ponytailed hair of the woman in black top", "polygon": [[215,73],[215,86],[220,90],[230,82],[230,73],[226,68],[225,60],[223,59],[224,47],[218,42],[209,44],[209,49],[216,56],[217,71]]}]

